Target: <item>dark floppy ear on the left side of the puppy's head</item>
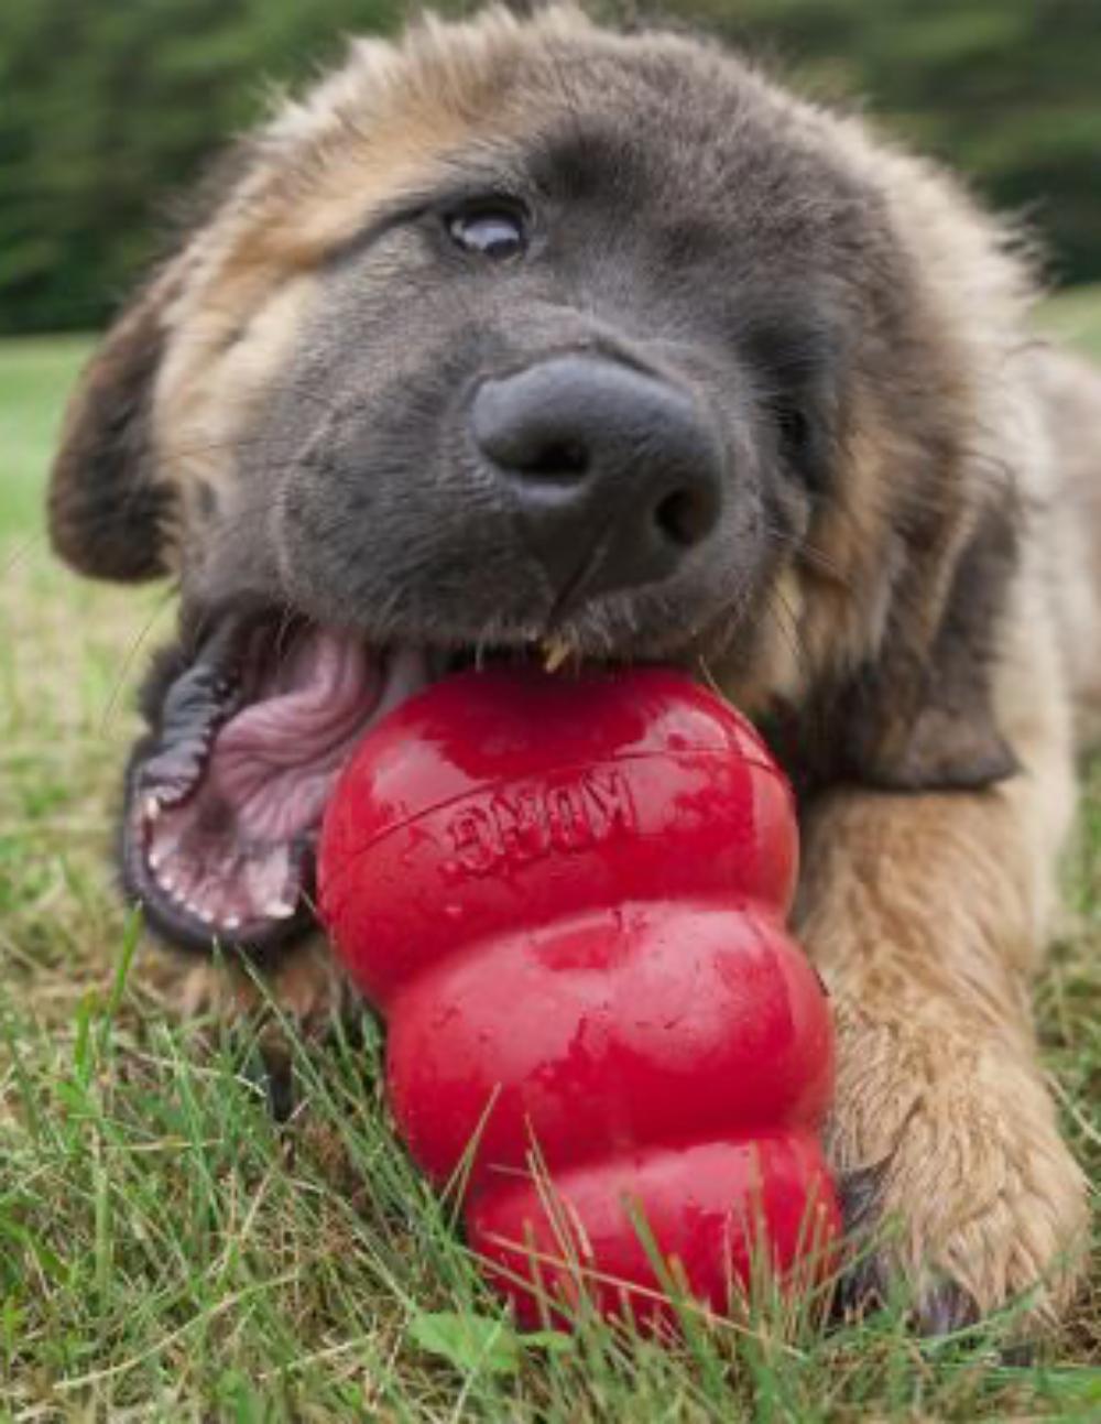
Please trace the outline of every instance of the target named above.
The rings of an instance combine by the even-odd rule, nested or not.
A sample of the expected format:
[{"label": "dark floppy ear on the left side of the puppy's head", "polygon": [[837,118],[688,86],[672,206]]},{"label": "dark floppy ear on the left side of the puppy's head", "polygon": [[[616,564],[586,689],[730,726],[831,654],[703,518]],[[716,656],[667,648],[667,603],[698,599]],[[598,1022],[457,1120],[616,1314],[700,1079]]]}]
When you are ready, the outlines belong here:
[{"label": "dark floppy ear on the left side of the puppy's head", "polygon": [[150,404],[174,288],[168,269],[118,318],[66,413],[50,478],[50,538],[61,558],[93,578],[167,572],[172,497],[154,480]]}]

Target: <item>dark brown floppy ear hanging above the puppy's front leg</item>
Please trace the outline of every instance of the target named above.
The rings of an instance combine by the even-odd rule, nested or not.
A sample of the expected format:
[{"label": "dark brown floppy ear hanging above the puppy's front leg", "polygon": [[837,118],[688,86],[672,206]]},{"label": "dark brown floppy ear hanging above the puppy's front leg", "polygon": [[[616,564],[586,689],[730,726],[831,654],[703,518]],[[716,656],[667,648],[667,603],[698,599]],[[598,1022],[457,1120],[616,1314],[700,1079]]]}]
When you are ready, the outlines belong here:
[{"label": "dark brown floppy ear hanging above the puppy's front leg", "polygon": [[1016,528],[1011,498],[980,514],[932,617],[927,590],[903,578],[882,656],[843,698],[845,760],[862,782],[974,790],[1018,769],[991,691]]}]

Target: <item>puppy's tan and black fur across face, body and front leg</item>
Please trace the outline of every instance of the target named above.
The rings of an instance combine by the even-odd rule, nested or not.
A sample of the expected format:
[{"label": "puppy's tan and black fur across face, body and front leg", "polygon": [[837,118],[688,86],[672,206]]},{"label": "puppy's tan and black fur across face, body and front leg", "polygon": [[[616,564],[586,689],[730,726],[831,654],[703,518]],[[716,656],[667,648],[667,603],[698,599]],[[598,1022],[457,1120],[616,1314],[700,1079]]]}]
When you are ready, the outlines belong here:
[{"label": "puppy's tan and black fur across face, body and front leg", "polygon": [[[424,235],[437,191],[517,182],[546,242],[507,273]],[[1013,248],[936,168],[711,46],[565,9],[427,21],[241,148],[85,373],[50,506],[78,570],[171,572],[185,609],[537,637],[446,393],[591,343],[702,392],[752,517],[567,634],[704,664],[796,779],[833,1158],[862,1222],[897,1223],[857,1284],[904,1274],[930,1329],[1026,1290],[1054,1317],[1085,1216],[1028,981],[1101,705],[1101,380],[1028,333]],[[316,943],[271,973],[303,1015],[335,984]]]}]

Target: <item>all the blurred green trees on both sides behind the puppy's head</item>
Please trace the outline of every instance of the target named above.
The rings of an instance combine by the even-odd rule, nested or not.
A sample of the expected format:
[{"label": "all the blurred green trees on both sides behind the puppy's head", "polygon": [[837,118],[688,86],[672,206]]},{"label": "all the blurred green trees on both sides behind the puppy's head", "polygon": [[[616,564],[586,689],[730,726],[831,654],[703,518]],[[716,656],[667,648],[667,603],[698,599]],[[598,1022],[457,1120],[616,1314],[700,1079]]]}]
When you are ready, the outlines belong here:
[{"label": "all the blurred green trees on both sides behind the puppy's head", "polygon": [[[612,6],[615,0],[611,0]],[[471,9],[452,0],[447,9]],[[403,0],[0,0],[0,330],[101,322],[171,194]],[[622,9],[622,6],[621,6]],[[647,7],[642,6],[645,10]],[[665,0],[1027,211],[1101,278],[1101,0]]]}]

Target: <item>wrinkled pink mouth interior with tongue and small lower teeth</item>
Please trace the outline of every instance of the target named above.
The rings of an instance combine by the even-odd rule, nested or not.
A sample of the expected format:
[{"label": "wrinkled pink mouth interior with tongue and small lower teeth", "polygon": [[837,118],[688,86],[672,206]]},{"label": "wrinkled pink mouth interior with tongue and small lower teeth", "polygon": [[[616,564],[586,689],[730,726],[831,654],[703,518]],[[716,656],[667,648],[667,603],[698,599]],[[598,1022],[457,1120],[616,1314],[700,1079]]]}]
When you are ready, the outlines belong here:
[{"label": "wrinkled pink mouth interior with tongue and small lower teeth", "polygon": [[[325,802],[359,738],[429,681],[423,654],[373,659],[323,629],[272,649],[255,699],[215,733],[191,793],[147,822],[145,860],[171,910],[211,937],[286,920]],[[164,753],[162,753],[164,755]]]}]

